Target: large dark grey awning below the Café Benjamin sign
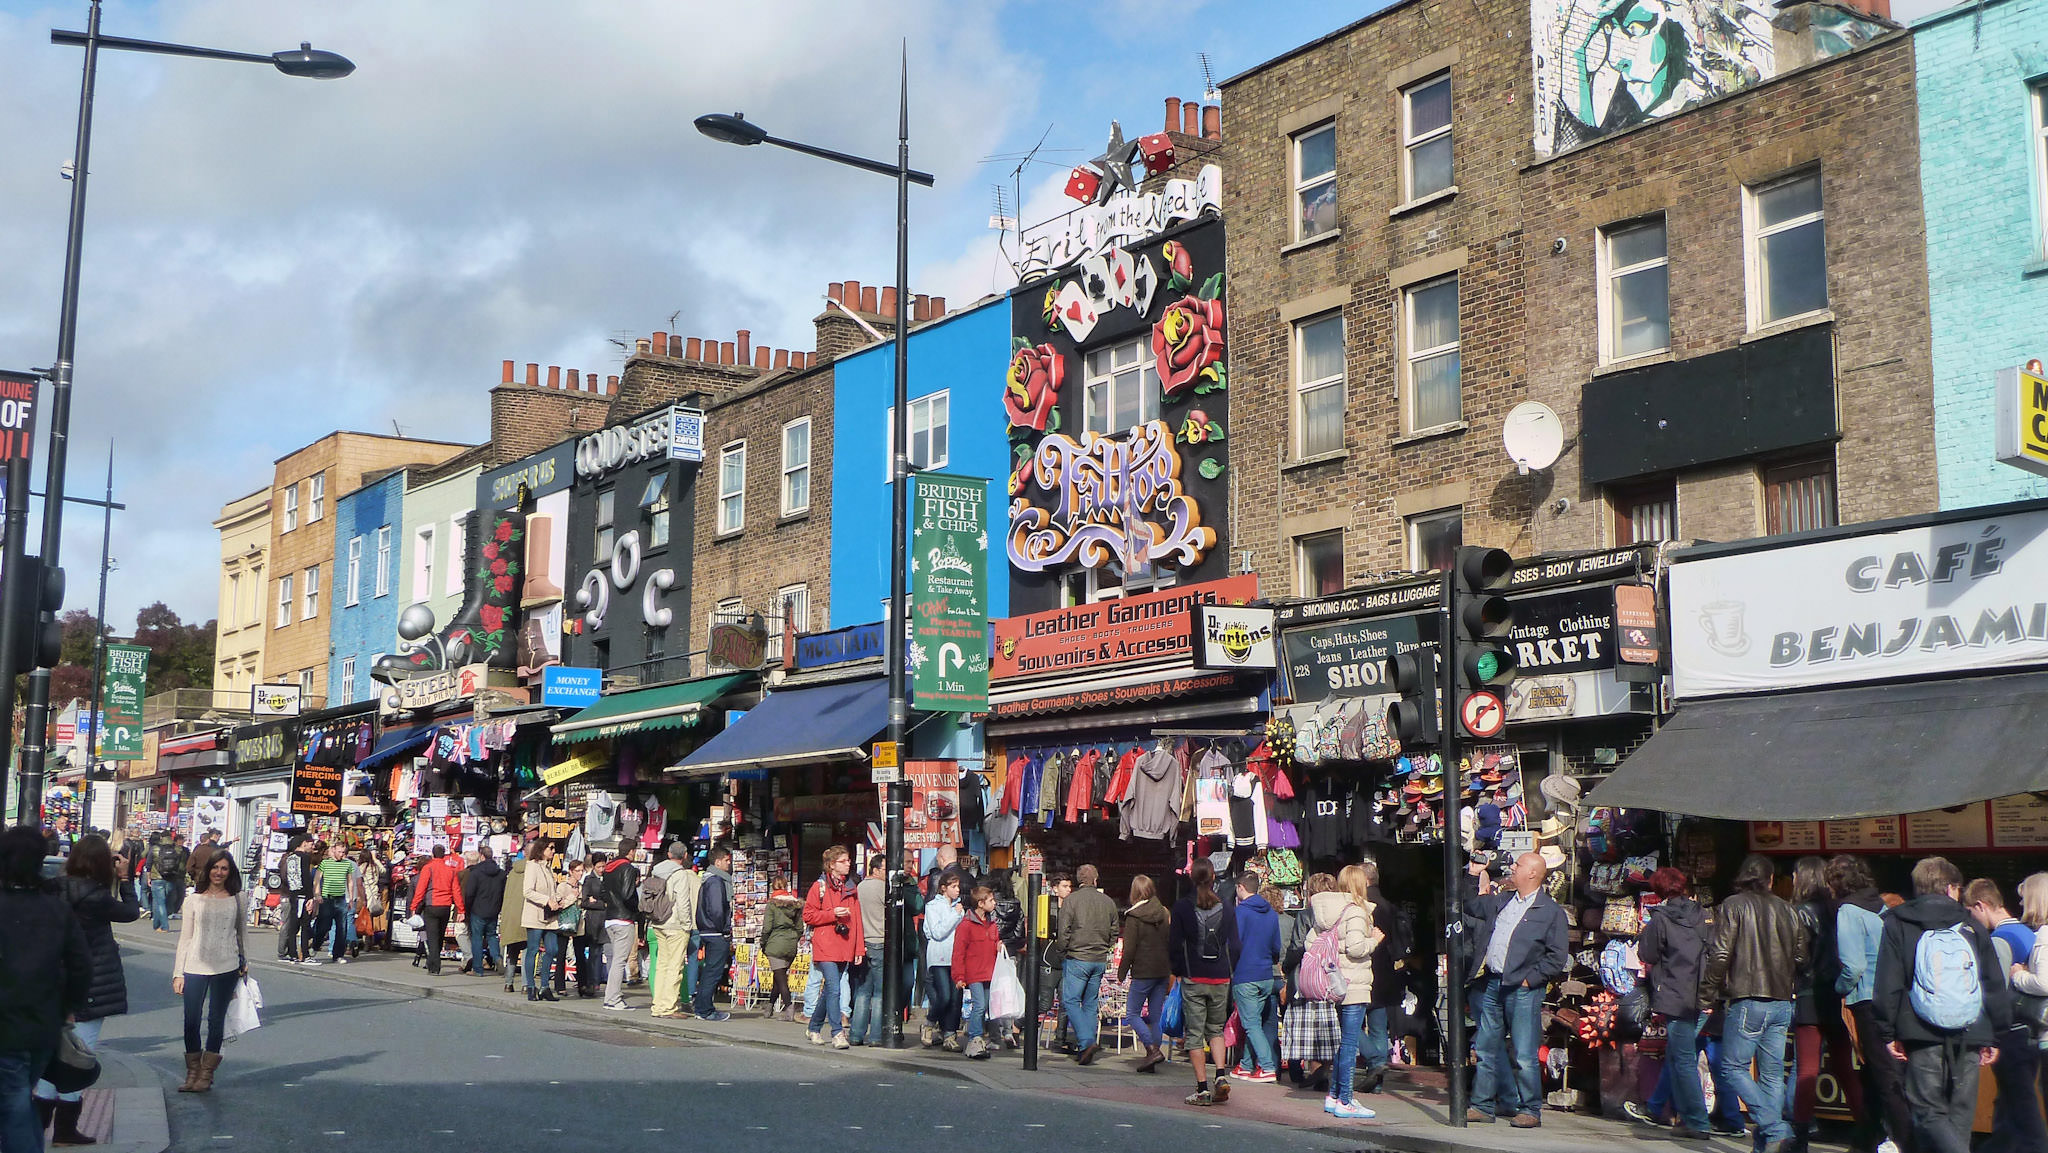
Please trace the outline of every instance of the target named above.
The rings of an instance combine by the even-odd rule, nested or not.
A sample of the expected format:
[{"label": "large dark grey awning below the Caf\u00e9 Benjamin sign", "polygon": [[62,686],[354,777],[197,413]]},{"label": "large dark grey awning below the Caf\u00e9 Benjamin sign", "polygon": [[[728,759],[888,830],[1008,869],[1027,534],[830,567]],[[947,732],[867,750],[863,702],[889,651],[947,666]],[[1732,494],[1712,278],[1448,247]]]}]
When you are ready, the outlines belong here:
[{"label": "large dark grey awning below the Caf\u00e9 Benjamin sign", "polygon": [[2048,672],[2023,672],[1686,704],[1587,803],[1835,821],[2044,788]]}]

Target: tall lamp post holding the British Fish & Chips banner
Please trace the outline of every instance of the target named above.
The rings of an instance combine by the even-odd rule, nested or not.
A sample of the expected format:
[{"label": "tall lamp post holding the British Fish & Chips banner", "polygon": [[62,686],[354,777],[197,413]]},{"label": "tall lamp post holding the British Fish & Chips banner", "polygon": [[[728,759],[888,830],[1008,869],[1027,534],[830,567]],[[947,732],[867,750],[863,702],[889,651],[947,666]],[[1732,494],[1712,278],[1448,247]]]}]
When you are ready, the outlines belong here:
[{"label": "tall lamp post holding the British Fish & Chips banner", "polygon": [[[696,131],[711,139],[739,145],[772,143],[805,156],[817,156],[862,172],[895,176],[897,182],[897,315],[895,315],[895,453],[889,465],[889,612],[883,618],[883,661],[889,666],[889,739],[903,756],[903,737],[909,729],[909,700],[903,688],[903,600],[905,563],[903,553],[909,543],[909,186],[932,186],[928,172],[909,166],[909,55],[903,59],[903,80],[897,96],[897,160],[864,160],[829,147],[815,147],[768,135],[768,129],[748,121],[739,113],[713,113],[696,117]],[[889,915],[883,917],[883,1020],[885,1044],[903,1044],[903,809],[909,805],[909,784],[897,780],[889,786],[889,801],[883,805],[883,825],[887,829],[889,858]]]}]

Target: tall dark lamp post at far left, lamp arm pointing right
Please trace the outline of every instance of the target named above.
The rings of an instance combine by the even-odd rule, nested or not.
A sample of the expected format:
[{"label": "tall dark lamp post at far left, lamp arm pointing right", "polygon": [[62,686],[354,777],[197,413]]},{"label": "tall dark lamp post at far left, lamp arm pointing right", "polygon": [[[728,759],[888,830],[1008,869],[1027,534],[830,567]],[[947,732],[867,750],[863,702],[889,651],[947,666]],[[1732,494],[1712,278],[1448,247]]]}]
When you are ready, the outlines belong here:
[{"label": "tall dark lamp post at far left, lamp arm pointing right", "polygon": [[[72,217],[63,242],[63,307],[57,317],[57,362],[45,373],[49,377],[49,461],[43,477],[43,565],[55,567],[63,545],[63,463],[72,438],[72,356],[78,348],[78,264],[86,231],[86,176],[92,152],[92,82],[98,74],[100,49],[147,51],[158,55],[193,55],[201,59],[233,59],[242,63],[268,63],[285,76],[309,80],[340,80],[356,70],[346,57],[319,51],[309,43],[295,49],[258,55],[248,51],[225,51],[213,47],[193,47],[160,41],[137,41],[129,37],[100,35],[100,0],[92,0],[86,16],[86,31],[51,31],[49,43],[82,45],[86,49],[84,82],[78,90],[78,141],[72,150]],[[29,528],[29,461],[16,455],[6,467],[6,545],[0,551],[0,571],[20,571]],[[18,584],[18,582],[16,582]],[[0,762],[12,752],[14,739],[14,676],[20,643],[31,631],[43,629],[51,616],[51,606],[35,604],[27,594],[8,600],[8,610],[0,612]],[[43,760],[49,739],[49,668],[41,657],[31,661],[29,711],[23,721],[20,741],[20,807],[23,823],[43,819]],[[92,702],[98,709],[98,702]]]}]

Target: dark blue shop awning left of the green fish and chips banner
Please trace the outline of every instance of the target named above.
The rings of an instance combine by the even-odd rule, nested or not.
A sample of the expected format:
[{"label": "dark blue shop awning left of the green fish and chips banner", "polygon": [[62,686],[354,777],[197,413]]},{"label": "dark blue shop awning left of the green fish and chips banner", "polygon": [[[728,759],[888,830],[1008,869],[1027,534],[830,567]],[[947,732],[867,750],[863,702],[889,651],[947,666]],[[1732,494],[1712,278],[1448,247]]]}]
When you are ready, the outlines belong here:
[{"label": "dark blue shop awning left of the green fish and chips banner", "polygon": [[887,678],[784,688],[668,772],[688,778],[807,760],[864,760],[868,741],[887,727]]}]

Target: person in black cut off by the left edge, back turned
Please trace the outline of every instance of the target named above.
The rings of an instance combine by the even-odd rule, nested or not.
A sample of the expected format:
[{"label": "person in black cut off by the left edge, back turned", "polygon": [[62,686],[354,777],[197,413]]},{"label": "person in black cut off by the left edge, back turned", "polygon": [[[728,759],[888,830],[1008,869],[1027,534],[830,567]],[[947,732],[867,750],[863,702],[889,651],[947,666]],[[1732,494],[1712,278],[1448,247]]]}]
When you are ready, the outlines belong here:
[{"label": "person in black cut off by the left edge, back turned", "polygon": [[43,834],[0,834],[0,1147],[41,1149],[33,1090],[63,1018],[92,995],[92,952],[72,907],[43,883]]}]

